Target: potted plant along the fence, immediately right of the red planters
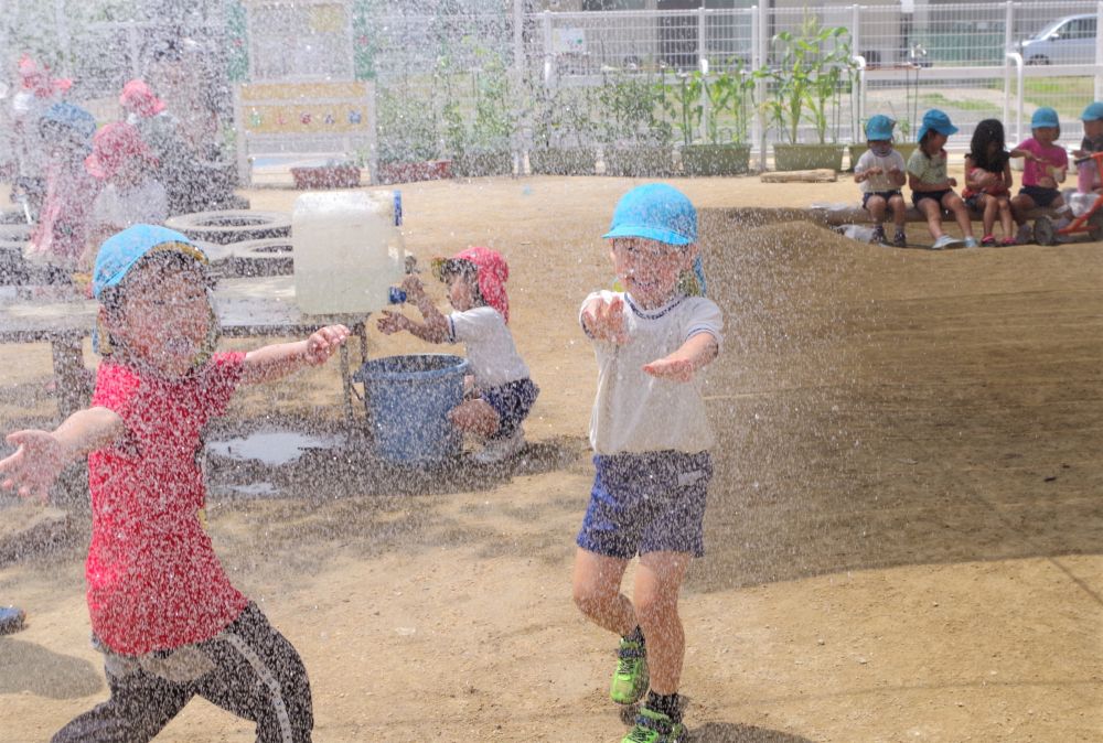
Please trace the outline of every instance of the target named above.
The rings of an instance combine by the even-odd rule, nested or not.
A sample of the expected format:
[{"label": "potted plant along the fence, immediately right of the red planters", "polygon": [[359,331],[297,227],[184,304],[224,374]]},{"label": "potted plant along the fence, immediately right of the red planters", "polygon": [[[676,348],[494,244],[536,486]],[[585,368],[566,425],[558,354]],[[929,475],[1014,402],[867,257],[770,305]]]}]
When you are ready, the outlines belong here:
[{"label": "potted plant along the fence, immediately right of the red planters", "polygon": [[481,66],[471,72],[474,118],[464,125],[459,105],[450,98],[445,121],[451,142],[452,172],[457,175],[512,175],[513,136],[516,115],[511,108],[508,71],[496,52],[476,49]]}]

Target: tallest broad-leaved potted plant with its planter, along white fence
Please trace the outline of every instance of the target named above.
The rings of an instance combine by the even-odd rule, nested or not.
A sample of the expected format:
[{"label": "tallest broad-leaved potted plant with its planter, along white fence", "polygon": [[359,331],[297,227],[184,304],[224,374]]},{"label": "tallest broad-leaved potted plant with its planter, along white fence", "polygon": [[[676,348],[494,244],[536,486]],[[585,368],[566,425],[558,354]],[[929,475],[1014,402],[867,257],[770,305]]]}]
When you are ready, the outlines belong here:
[{"label": "tallest broad-leaved potted plant with its planter, along white fence", "polygon": [[[843,87],[854,82],[849,31],[821,26],[805,15],[800,35],[782,31],[773,39],[780,49],[777,67],[756,73],[773,87],[762,106],[784,141],[774,144],[778,170],[843,169],[843,146],[827,142],[827,130],[837,129]],[[811,123],[815,143],[800,141],[802,122]]]}]

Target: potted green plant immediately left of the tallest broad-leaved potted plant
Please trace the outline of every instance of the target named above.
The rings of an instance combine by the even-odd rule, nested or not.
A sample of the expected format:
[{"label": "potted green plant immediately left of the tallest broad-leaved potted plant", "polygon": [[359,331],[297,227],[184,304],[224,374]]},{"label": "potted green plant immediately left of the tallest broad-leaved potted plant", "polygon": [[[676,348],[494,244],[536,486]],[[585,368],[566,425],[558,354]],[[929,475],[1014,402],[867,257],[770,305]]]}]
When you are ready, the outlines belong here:
[{"label": "potted green plant immediately left of the tallest broad-leaved potted plant", "polygon": [[[704,94],[707,107],[688,108],[695,122],[704,125],[707,143],[686,139],[682,148],[682,169],[686,175],[738,175],[750,169],[751,148],[747,144],[749,129],[748,101],[754,78],[746,73],[741,61],[731,69],[720,71],[711,78],[705,72],[694,73],[689,95]],[[730,126],[721,126],[728,122]]]}]

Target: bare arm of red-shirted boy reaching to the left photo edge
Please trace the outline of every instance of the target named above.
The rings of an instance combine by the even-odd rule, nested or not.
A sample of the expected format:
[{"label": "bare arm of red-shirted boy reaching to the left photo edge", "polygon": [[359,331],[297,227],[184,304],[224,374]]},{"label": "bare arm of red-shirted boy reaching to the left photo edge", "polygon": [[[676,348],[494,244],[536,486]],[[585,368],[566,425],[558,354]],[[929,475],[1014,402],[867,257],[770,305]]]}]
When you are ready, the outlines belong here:
[{"label": "bare arm of red-shirted boy reaching to the left photo edge", "polygon": [[0,460],[0,486],[43,500],[69,462],[101,449],[122,435],[126,426],[107,408],[86,408],[66,418],[53,431],[28,429],[9,433],[15,453]]}]

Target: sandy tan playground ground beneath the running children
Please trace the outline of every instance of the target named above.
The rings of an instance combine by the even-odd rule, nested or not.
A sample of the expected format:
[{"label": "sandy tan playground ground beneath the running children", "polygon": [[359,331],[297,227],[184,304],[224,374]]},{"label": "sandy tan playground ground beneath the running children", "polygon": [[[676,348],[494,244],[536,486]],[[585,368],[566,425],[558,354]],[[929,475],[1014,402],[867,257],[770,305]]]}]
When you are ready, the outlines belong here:
[{"label": "sandy tan playground ground beneath the running children", "polygon": [[[356,446],[208,463],[216,548],[302,654],[317,740],[624,734],[606,696],[614,638],[569,583],[595,380],[575,317],[609,281],[599,236],[633,183],[403,186],[417,255],[510,259],[543,392],[508,467],[400,473]],[[856,193],[677,183],[700,207]],[[296,194],[248,195],[289,209]],[[1103,740],[1101,246],[896,250],[731,212],[705,228],[729,326],[707,384],[709,552],[682,605],[688,740]],[[372,333],[373,355],[428,349]],[[0,369],[3,428],[47,422],[49,348],[0,347]],[[212,435],[336,431],[338,400],[336,367],[314,370],[243,391]],[[235,495],[257,482],[278,495]],[[72,538],[0,566],[0,604],[29,613],[0,638],[6,740],[47,740],[107,694],[72,508]],[[158,740],[253,736],[196,700]]]}]

